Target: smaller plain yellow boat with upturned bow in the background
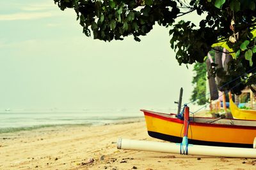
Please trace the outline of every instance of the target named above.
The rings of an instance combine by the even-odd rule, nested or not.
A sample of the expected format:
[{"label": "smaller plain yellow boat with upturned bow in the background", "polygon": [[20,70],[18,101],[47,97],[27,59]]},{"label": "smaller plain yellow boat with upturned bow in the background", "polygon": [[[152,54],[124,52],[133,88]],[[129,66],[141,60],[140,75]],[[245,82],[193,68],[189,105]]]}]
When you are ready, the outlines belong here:
[{"label": "smaller plain yellow boat with upturned bow in the background", "polygon": [[239,109],[236,104],[230,100],[230,111],[233,118],[243,120],[256,120],[256,110],[243,110]]}]

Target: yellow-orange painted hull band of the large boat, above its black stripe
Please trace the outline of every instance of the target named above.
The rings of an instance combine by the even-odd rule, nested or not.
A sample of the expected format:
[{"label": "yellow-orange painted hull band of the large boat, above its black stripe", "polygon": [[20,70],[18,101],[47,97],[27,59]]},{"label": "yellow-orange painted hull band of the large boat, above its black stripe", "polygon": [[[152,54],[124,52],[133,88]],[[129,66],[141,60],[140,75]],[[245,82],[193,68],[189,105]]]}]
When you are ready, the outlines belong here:
[{"label": "yellow-orange painted hull band of the large boat, above its black stripe", "polygon": [[[182,132],[184,131],[182,120],[150,113],[145,113],[145,120],[148,131],[182,137]],[[243,127],[243,129],[239,127],[238,125],[236,127],[228,127],[228,125],[191,122],[188,138],[221,143],[252,144],[256,136],[255,127],[254,129],[252,127]]]}]

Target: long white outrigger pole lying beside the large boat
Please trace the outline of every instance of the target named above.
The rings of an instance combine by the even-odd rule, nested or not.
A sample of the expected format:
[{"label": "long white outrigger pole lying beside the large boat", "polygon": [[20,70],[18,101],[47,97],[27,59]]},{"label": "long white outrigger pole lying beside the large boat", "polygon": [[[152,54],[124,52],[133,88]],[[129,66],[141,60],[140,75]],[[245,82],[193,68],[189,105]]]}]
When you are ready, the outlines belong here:
[{"label": "long white outrigger pole lying beside the large boat", "polygon": [[[255,141],[256,142],[256,141]],[[254,143],[253,146],[256,144]],[[162,143],[119,138],[117,148],[124,150],[145,150],[152,152],[180,153],[180,143]],[[213,157],[256,158],[256,149],[222,146],[188,145],[188,154]]]}]

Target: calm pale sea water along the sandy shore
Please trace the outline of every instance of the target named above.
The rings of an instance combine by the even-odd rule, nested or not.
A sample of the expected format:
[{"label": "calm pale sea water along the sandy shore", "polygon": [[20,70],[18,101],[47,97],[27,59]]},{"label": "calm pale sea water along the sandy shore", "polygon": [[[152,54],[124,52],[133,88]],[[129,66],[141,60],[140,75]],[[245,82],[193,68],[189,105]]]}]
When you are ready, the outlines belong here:
[{"label": "calm pale sea water along the sandy shore", "polygon": [[103,125],[127,118],[142,118],[136,110],[1,111],[0,133],[58,125]]}]

